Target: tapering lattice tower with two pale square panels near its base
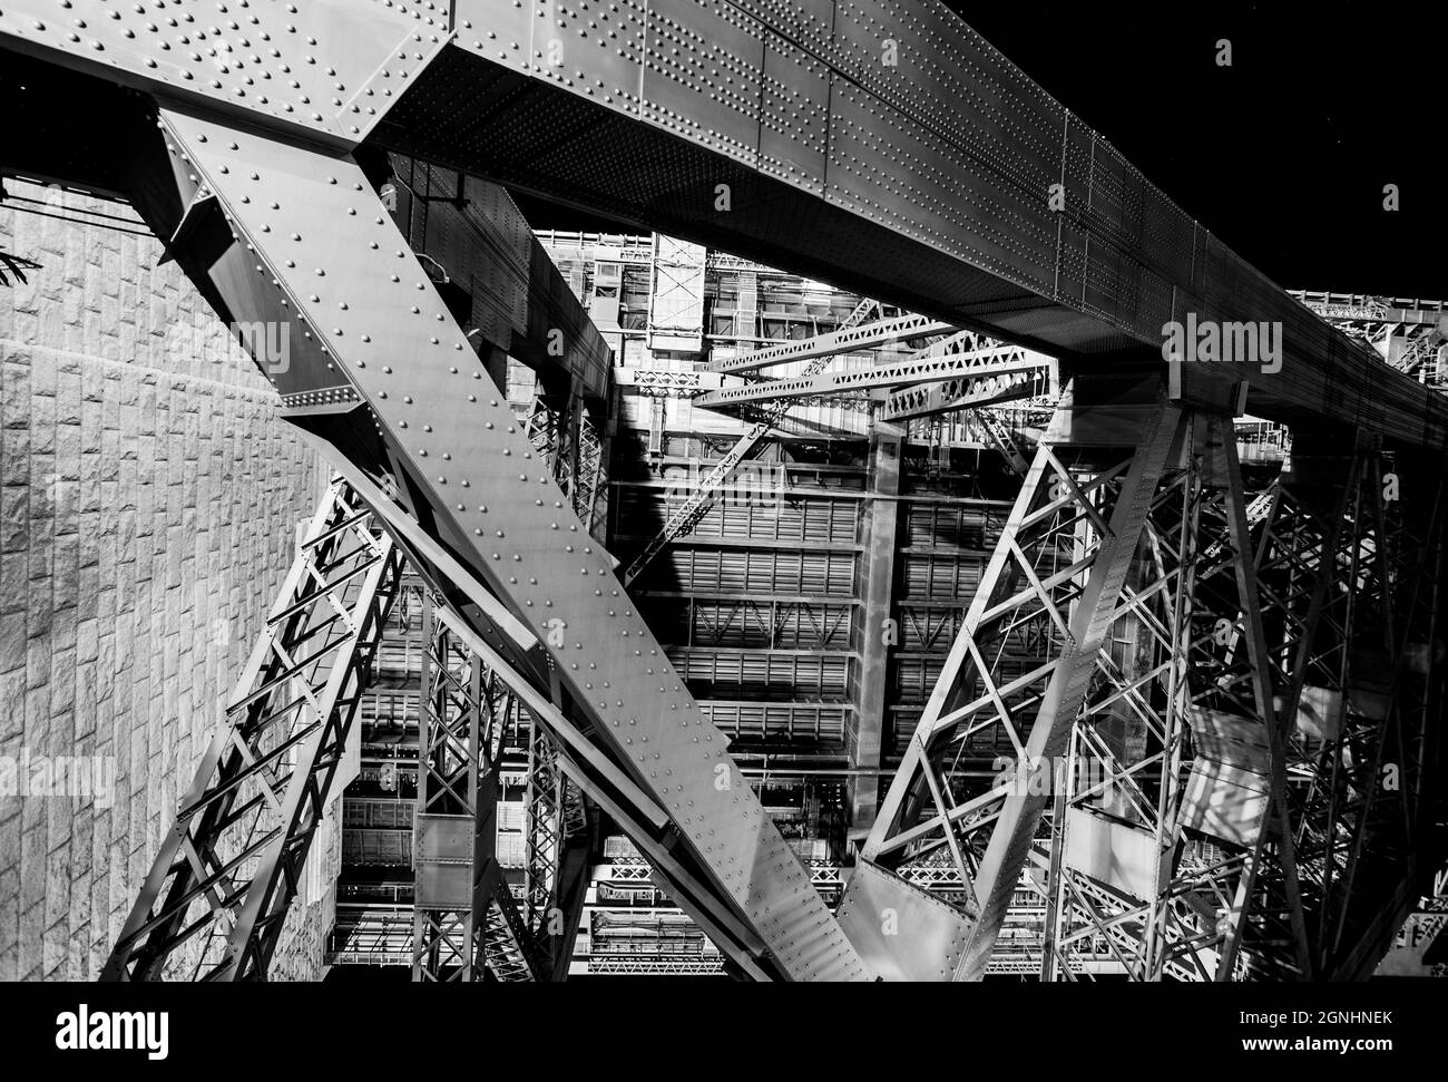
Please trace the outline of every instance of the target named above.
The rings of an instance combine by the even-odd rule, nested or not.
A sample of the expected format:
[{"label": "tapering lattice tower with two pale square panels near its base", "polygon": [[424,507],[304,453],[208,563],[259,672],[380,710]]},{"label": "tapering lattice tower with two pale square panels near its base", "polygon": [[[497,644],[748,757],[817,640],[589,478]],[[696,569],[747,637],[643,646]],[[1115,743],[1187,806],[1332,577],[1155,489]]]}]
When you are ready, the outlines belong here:
[{"label": "tapering lattice tower with two pale square panels near its base", "polygon": [[1076,957],[1085,943],[1137,978],[1216,978],[1267,823],[1280,821],[1248,571],[1264,503],[1244,507],[1225,419],[1187,414],[1182,436],[1192,450],[1157,485],[1058,779],[1045,976],[1089,972]]}]

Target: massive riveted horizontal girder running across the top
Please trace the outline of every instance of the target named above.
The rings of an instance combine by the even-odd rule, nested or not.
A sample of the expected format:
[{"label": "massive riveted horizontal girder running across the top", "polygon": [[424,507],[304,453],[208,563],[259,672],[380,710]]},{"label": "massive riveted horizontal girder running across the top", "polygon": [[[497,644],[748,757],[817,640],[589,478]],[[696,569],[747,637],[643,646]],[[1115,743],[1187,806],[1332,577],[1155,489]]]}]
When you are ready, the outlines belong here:
[{"label": "massive riveted horizontal girder running across the top", "polygon": [[[188,7],[204,6],[178,6],[194,19]],[[1448,403],[1273,285],[940,3],[265,4],[245,28],[207,14],[204,52],[164,51],[145,4],[80,0],[74,13],[88,16],[85,39],[49,3],[6,4],[0,41],[274,132],[375,141],[1053,355],[1158,353],[1187,320],[1276,327],[1266,364],[1202,362],[1224,382],[1250,379],[1250,413],[1448,443]],[[898,62],[882,62],[882,23],[908,28],[891,39]],[[727,94],[721,67],[734,71]]]}]

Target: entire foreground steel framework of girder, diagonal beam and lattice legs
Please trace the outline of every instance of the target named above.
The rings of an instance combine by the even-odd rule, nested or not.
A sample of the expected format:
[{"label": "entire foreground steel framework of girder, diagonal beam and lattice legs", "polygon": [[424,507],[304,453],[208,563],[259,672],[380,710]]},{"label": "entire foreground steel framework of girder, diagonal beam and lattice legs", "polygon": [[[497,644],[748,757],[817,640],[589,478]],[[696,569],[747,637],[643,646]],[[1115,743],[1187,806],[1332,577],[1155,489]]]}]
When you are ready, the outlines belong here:
[{"label": "entire foreground steel framework of girder, diagonal beam and lattice legs", "polygon": [[[133,7],[77,4],[81,43],[49,6],[6,4],[0,42],[19,52],[0,78],[35,123],[0,165],[123,194],[224,322],[287,326],[288,366],[264,371],[345,487],[109,976],[159,976],[201,933],[211,976],[265,975],[404,561],[443,629],[427,687],[452,689],[430,698],[418,868],[462,876],[420,894],[418,975],[559,972],[540,914],[576,898],[560,869],[584,808],[623,824],[753,978],[979,978],[1022,876],[1047,898],[1045,976],[1073,973],[1086,939],[1148,979],[1370,969],[1442,856],[1448,404],[1225,249],[954,16],[268,7],[193,30],[203,61],[162,51]],[[882,20],[908,30],[899,64],[879,62]],[[410,159],[434,168],[404,235]],[[469,200],[505,198],[475,178],[889,301],[948,326],[947,352],[967,332],[1009,343],[966,384],[893,404],[899,420],[911,401],[1018,397],[969,381],[1040,369],[1021,348],[1058,359],[1051,424],[834,913],[598,540],[579,448],[607,413],[604,340],[526,227],[510,246],[469,217]],[[418,207],[445,225],[414,229]],[[1169,368],[1173,322],[1277,326],[1281,352]],[[937,346],[699,406],[934,387]],[[539,369],[562,443],[502,401],[508,355]],[[1231,437],[1244,410],[1295,435],[1254,500]],[[314,634],[334,660],[308,655],[308,689],[285,701]],[[517,711],[549,779],[530,800],[553,817],[523,911],[481,840],[489,733]],[[959,784],[986,733],[1024,763],[1089,756],[1108,778]],[[251,814],[275,821],[236,850]],[[950,888],[921,888],[938,866]]]}]

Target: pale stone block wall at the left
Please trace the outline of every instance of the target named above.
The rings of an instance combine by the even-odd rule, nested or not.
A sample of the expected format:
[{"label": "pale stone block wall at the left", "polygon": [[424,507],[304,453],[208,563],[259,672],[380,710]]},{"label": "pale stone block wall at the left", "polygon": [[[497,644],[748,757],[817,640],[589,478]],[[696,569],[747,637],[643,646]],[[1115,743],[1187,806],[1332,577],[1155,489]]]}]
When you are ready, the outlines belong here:
[{"label": "pale stone block wall at the left", "polygon": [[41,267],[0,285],[0,756],[107,756],[114,792],[0,797],[0,981],[91,981],[326,471],[149,233],[33,213],[127,207],[6,190],[39,204],[0,203],[0,251]]}]

